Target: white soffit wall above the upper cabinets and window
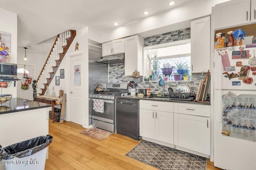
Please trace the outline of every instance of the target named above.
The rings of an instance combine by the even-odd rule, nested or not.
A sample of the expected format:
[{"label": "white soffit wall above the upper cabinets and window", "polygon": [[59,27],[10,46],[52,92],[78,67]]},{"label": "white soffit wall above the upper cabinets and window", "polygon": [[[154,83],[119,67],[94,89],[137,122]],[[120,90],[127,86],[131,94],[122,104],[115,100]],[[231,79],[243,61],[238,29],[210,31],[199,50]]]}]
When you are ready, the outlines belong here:
[{"label": "white soffit wall above the upper cabinets and window", "polygon": [[[187,24],[187,22],[183,22],[189,21],[188,24],[190,24],[190,20],[192,19],[208,16],[212,13],[212,6],[226,1],[228,0],[195,0],[189,2],[182,6],[178,6],[177,8],[173,8],[172,10],[166,10],[156,15],[149,16],[141,20],[134,21],[132,23],[128,23],[126,25],[122,25],[120,27],[117,27],[116,29],[104,31],[101,33],[101,43],[112,41],[114,39],[122,37],[127,37],[130,35],[140,34],[150,30],[154,30],[157,32],[157,29],[162,29],[162,27],[168,27],[169,30],[166,28],[164,29],[165,31],[168,30],[166,32],[190,27],[188,25],[185,25]],[[153,35],[158,34],[160,33],[156,33]]]}]

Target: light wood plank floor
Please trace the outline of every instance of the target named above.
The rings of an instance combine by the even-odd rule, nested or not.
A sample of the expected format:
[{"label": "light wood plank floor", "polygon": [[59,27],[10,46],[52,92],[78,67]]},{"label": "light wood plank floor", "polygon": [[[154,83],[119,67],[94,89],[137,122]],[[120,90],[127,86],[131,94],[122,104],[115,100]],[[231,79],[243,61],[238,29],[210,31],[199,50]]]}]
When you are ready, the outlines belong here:
[{"label": "light wood plank floor", "polygon": [[[156,170],[156,168],[124,156],[139,141],[119,134],[112,134],[103,141],[82,135],[81,125],[72,122],[52,123],[49,119],[49,145],[46,170]],[[215,168],[208,160],[207,170]]]}]

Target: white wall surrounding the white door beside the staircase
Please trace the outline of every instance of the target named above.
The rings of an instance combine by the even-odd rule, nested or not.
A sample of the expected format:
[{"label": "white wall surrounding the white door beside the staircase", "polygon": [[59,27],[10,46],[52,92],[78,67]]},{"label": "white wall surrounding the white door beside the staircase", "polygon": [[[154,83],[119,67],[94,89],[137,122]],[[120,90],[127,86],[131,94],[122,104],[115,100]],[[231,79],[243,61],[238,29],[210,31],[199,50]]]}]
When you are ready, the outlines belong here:
[{"label": "white wall surrounding the white door beside the staircase", "polygon": [[[82,29],[76,30],[76,37],[74,38],[74,41],[70,45],[62,63],[60,64],[55,76],[60,76],[60,69],[64,69],[65,78],[60,79],[60,86],[55,86],[55,76],[53,78],[53,81],[49,85],[49,89],[52,89],[52,86],[54,86],[56,96],[58,95],[59,90],[64,90],[64,93],[67,94],[67,102],[66,102],[66,111],[64,119],[66,121],[70,121],[70,57],[74,55],[83,55],[83,61],[81,63],[81,81],[83,81],[84,84],[84,92],[83,92],[83,101],[82,104],[82,113],[83,113],[83,127],[88,128],[89,127],[89,94],[88,94],[88,38],[99,42],[100,41],[100,32],[97,32],[95,29],[92,29],[90,27],[84,27]],[[75,44],[78,42],[79,47],[78,51],[75,51]],[[50,90],[51,92],[51,90]]]}]

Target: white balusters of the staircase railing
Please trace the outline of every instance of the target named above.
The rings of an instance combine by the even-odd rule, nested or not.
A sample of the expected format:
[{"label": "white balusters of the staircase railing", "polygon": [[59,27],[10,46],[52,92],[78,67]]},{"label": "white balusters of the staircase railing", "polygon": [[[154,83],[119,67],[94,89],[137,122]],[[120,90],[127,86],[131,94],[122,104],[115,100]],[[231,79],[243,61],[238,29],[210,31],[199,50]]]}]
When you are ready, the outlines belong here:
[{"label": "white balusters of the staircase railing", "polygon": [[[44,66],[44,70],[42,71],[40,77],[37,81],[37,93],[42,93],[42,89],[46,89],[44,84],[47,84],[48,80],[46,78],[50,78],[50,72],[54,72],[54,68],[56,67],[56,60],[60,59],[59,53],[63,53],[63,47],[67,45],[67,39],[70,39],[71,32],[67,30],[63,33],[60,33],[58,38],[56,39],[56,43],[53,45],[52,51],[48,56],[48,60]],[[48,85],[47,85],[48,86]]]}]

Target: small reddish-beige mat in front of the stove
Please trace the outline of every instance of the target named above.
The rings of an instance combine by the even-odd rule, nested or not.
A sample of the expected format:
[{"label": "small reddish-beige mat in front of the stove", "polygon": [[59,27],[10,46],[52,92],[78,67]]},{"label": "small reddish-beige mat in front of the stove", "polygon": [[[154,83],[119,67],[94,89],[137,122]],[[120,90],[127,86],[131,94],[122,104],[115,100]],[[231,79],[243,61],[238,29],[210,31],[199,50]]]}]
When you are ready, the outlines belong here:
[{"label": "small reddish-beige mat in front of the stove", "polygon": [[90,129],[86,129],[85,131],[80,132],[88,137],[92,137],[99,141],[102,141],[113,134],[113,132],[105,131],[103,129],[99,129],[97,127],[92,127]]}]

